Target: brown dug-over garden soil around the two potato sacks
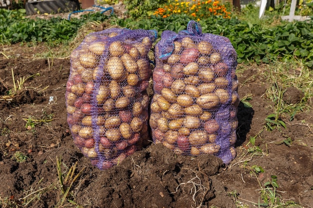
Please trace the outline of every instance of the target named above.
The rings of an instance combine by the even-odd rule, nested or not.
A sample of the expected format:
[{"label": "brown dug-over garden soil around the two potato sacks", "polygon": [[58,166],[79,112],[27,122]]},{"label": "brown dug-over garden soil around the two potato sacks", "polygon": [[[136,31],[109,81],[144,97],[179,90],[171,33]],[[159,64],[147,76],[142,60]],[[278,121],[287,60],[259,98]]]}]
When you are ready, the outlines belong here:
[{"label": "brown dug-over garden soil around the two potato sacks", "polygon": [[[0,56],[2,203],[6,200],[7,204],[25,208],[257,207],[253,203],[263,202],[264,183],[276,176],[278,199],[313,207],[313,116],[298,111],[292,121],[287,115],[282,118],[286,129],[264,130],[264,119],[273,113],[274,103],[264,96],[270,86],[255,67],[237,74],[239,96],[251,94],[252,108],[242,102],[238,106],[237,157],[229,165],[211,155],[177,156],[150,142],[119,165],[100,171],[74,146],[69,133],[64,98],[69,59],[34,60],[32,54],[44,50],[39,46],[7,48],[6,54],[18,51],[19,56]],[[11,70],[15,80],[40,75],[28,78],[15,96],[7,96],[14,88]],[[286,92],[286,102],[301,99],[296,88]],[[31,126],[29,118],[42,121]],[[254,136],[255,148],[261,153],[248,149],[253,147],[249,138]],[[24,162],[15,158],[17,153],[26,156]],[[252,157],[252,153],[258,154]],[[64,178],[71,170],[73,177],[78,176],[72,184],[73,177],[69,177],[60,186],[57,160],[61,160]],[[61,190],[66,188],[70,191],[61,203]]]}]

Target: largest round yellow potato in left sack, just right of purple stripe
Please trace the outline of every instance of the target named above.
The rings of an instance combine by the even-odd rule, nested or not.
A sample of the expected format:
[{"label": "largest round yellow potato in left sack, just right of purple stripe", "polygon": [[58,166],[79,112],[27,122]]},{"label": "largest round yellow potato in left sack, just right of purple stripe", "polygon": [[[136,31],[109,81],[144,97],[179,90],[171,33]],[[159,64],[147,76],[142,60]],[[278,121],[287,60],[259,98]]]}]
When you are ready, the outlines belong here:
[{"label": "largest round yellow potato in left sack, just right of purple stripe", "polygon": [[125,76],[123,62],[118,57],[111,57],[106,63],[107,72],[114,80],[123,79]]}]

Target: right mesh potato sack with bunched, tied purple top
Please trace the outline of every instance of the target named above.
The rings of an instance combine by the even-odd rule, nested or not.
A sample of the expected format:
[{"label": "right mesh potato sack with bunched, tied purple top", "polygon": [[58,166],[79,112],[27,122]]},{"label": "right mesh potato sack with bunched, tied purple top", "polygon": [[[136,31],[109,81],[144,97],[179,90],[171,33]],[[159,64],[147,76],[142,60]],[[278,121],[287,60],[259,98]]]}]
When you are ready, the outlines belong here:
[{"label": "right mesh potato sack with bunched, tied purple top", "polygon": [[163,31],[155,45],[149,125],[154,143],[176,154],[236,155],[236,52],[226,37],[187,29]]}]

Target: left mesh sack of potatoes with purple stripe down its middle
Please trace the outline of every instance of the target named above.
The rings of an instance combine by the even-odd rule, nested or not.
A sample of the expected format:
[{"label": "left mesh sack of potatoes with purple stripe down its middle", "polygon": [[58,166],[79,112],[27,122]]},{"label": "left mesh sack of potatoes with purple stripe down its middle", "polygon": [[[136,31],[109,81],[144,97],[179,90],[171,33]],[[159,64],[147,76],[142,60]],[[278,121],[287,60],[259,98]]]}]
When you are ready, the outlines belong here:
[{"label": "left mesh sack of potatoes with purple stripe down its middle", "polygon": [[85,36],[70,55],[66,111],[73,141],[103,170],[138,150],[148,138],[154,30],[111,28]]}]

